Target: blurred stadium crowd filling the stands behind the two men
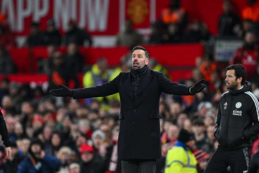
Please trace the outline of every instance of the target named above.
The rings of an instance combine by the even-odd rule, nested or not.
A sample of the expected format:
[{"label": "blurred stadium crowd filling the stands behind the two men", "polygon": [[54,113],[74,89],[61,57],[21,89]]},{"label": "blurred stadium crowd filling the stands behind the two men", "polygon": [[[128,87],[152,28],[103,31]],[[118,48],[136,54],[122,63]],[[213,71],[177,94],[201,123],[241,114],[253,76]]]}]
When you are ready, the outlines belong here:
[{"label": "blurred stadium crowd filling the stands behind the two men", "polygon": [[[247,79],[252,83],[252,92],[259,99],[259,18],[253,18],[245,12],[239,17],[233,12],[232,2],[228,0],[224,1],[222,6],[224,13],[219,16],[219,36],[244,40],[244,45],[237,50],[230,63],[243,64],[248,73]],[[0,73],[15,73],[15,64],[7,50],[16,44],[6,23],[0,19]],[[107,60],[100,58],[85,72],[78,46],[91,46],[92,38],[89,33],[79,29],[75,22],[70,21],[68,25],[69,30],[62,37],[53,20],[48,21],[46,31],[40,31],[38,23],[31,23],[31,33],[24,46],[48,46],[49,57],[39,64],[39,72],[49,74],[47,86],[20,84],[10,82],[7,78],[1,81],[1,112],[10,136],[12,157],[5,160],[2,145],[0,172],[22,173],[35,169],[37,172],[58,173],[121,173],[121,164],[117,159],[119,95],[73,100],[53,97],[48,91],[57,89],[58,83],[68,85],[70,80],[73,80],[75,88],[78,88],[79,72],[84,72],[81,81],[83,87],[110,81],[121,71],[131,69],[131,52],[121,58],[120,65],[115,69],[110,69]],[[149,40],[142,39],[133,29],[130,20],[126,21],[125,28],[125,31],[117,36],[117,45],[132,47],[143,43],[204,41],[206,44],[214,38],[201,21],[188,23],[187,12],[174,0],[170,7],[162,11],[161,20],[151,26],[152,34]],[[56,46],[60,45],[68,46],[64,55],[56,50]],[[171,78],[167,70],[155,59],[150,60],[148,65],[149,68],[161,71],[167,78]],[[164,171],[167,151],[175,146],[181,128],[194,134],[196,150],[193,152],[197,169],[199,173],[205,169],[210,156],[218,147],[214,128],[219,99],[227,91],[224,82],[225,67],[214,62],[212,52],[207,52],[203,57],[197,57],[192,78],[179,81],[193,85],[204,78],[207,88],[195,96],[162,93],[159,114],[162,116],[160,130],[163,158],[157,160],[157,173]],[[253,142],[252,155],[259,151],[259,139],[254,137]]]}]

